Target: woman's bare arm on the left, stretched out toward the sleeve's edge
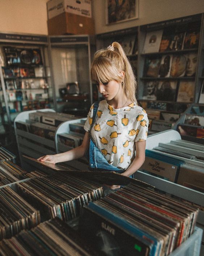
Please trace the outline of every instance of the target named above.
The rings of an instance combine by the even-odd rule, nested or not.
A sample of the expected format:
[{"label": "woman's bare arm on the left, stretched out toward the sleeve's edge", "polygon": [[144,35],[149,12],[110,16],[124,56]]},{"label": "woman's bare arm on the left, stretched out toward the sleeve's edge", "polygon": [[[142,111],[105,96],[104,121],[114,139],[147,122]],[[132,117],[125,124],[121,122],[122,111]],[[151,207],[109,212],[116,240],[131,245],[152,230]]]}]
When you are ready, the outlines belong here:
[{"label": "woman's bare arm on the left, stretched out toward the sleeve's edge", "polygon": [[78,146],[72,150],[69,150],[60,154],[44,155],[43,157],[38,158],[38,160],[42,162],[49,162],[49,163],[55,164],[55,163],[61,163],[61,162],[78,159],[85,155],[86,149],[89,146],[89,141],[90,141],[89,133],[86,131],[81,146]]}]

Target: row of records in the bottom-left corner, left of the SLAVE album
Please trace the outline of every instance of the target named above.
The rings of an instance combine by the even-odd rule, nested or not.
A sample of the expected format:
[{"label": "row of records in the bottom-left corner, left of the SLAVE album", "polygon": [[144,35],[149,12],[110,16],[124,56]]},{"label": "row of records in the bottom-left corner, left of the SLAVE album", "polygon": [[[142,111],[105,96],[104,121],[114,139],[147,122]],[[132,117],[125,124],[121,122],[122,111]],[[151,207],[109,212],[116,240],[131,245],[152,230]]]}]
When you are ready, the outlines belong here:
[{"label": "row of records in the bottom-left corner, left of the SLAVE album", "polygon": [[69,227],[59,219],[39,224],[29,231],[0,242],[2,256],[93,256]]}]

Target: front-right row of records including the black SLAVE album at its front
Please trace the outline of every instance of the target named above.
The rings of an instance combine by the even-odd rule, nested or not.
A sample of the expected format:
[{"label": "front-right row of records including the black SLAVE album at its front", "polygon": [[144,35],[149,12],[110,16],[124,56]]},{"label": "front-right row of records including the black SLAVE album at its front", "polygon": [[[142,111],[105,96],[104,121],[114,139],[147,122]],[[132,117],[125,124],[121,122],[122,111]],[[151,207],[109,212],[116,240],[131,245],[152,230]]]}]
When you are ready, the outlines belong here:
[{"label": "front-right row of records including the black SLAVE album at its front", "polygon": [[79,229],[95,250],[109,248],[106,255],[169,255],[192,234],[197,214],[197,207],[129,184],[85,206]]}]

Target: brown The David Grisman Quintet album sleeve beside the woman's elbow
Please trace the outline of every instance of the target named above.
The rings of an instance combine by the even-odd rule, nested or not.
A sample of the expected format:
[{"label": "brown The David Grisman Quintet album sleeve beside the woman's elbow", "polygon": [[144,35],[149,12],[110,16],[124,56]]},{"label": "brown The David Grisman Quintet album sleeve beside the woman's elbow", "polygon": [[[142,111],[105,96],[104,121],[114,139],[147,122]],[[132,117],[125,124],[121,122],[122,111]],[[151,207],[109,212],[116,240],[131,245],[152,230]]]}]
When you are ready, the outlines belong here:
[{"label": "brown The David Grisman Quintet album sleeve beside the woman's elbow", "polygon": [[175,182],[177,179],[178,166],[162,162],[158,159],[145,157],[145,162],[139,170],[150,174],[156,174],[159,178]]}]

